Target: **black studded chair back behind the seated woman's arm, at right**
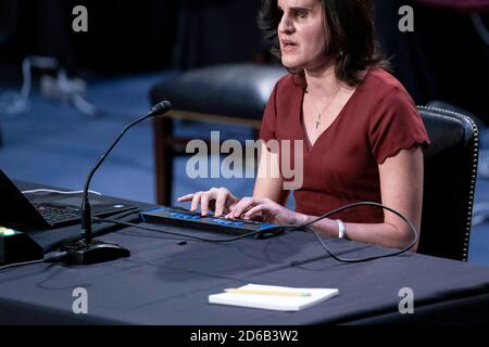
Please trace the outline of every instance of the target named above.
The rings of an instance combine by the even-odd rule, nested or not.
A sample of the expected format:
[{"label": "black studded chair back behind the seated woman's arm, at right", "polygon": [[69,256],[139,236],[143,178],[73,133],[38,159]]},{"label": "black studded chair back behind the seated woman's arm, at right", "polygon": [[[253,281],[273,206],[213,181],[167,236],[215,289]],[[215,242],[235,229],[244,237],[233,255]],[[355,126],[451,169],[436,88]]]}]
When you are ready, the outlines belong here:
[{"label": "black studded chair back behind the seated woman's arm, at right", "polygon": [[478,130],[461,113],[418,106],[431,140],[426,149],[418,252],[467,260],[477,178]]}]

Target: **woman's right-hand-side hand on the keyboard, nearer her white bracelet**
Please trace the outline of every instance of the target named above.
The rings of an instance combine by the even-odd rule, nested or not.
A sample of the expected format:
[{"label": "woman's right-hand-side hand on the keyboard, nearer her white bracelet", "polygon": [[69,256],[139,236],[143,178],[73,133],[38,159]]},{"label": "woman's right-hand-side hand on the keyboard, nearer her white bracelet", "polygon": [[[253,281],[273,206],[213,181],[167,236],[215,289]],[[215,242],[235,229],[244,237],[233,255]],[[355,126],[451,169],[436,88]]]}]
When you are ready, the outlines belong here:
[{"label": "woman's right-hand-side hand on the keyboard, nearer her white bracelet", "polygon": [[226,218],[261,219],[278,224],[300,224],[305,222],[308,217],[266,197],[243,197],[230,208]]}]

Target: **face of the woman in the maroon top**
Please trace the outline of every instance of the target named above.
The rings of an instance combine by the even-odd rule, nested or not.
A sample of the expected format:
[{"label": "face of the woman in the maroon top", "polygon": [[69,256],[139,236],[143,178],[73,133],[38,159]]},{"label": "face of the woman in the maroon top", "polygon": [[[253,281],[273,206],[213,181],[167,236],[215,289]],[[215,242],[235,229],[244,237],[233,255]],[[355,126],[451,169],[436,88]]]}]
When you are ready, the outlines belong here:
[{"label": "face of the woman in the maroon top", "polygon": [[318,0],[278,0],[281,63],[291,69],[315,69],[327,63],[323,7]]}]

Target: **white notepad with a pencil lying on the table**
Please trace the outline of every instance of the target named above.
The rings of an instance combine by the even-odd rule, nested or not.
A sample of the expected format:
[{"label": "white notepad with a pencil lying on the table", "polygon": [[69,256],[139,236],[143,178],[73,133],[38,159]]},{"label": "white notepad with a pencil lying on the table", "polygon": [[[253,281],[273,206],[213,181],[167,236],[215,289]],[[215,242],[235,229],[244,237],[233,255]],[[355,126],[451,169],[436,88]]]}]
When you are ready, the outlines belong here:
[{"label": "white notepad with a pencil lying on the table", "polygon": [[[297,288],[260,284],[247,284],[238,290],[249,291],[249,293],[212,294],[209,295],[209,303],[277,311],[299,311],[336,296],[339,293],[337,288]],[[269,294],[250,294],[256,293],[255,291],[258,293],[263,291]]]}]

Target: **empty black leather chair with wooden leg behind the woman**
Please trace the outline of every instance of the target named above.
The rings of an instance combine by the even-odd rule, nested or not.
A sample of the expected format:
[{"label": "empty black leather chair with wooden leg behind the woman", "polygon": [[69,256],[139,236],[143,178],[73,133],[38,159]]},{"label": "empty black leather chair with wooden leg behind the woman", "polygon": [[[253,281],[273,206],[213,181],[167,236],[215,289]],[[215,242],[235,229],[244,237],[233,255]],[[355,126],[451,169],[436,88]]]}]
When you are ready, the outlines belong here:
[{"label": "empty black leather chair with wooden leg behind the woman", "polygon": [[174,119],[239,125],[258,138],[263,110],[275,82],[287,70],[277,65],[228,64],[188,70],[154,86],[150,102],[167,99],[173,110],[154,119],[156,202],[171,205],[173,159],[189,139],[174,136]]}]

